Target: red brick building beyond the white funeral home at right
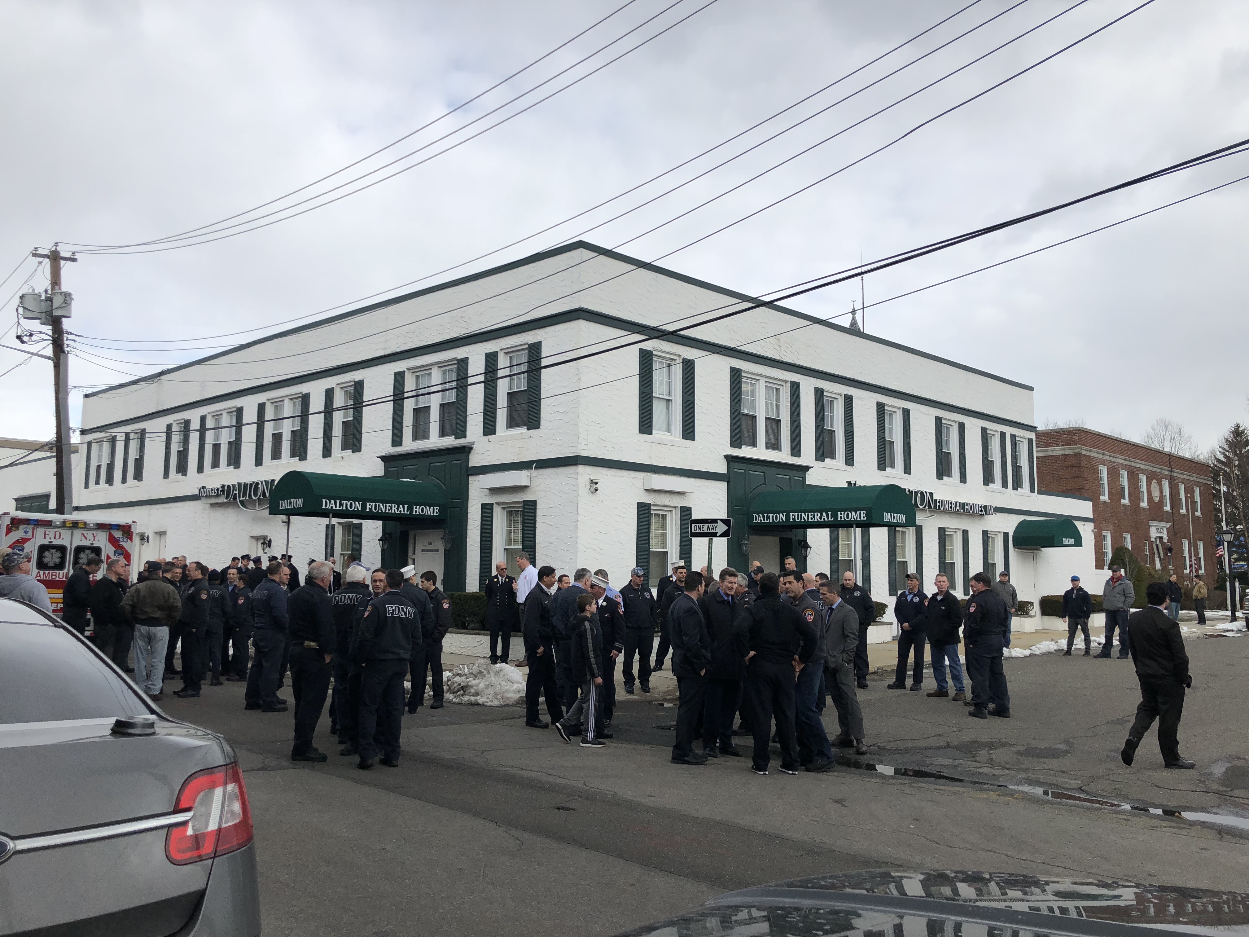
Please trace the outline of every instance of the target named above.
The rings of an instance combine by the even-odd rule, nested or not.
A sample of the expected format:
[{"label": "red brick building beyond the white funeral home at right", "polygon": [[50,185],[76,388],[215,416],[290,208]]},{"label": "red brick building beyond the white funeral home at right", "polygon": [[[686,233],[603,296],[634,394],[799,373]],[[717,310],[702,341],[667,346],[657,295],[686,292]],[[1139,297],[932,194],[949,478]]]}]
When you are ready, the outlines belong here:
[{"label": "red brick building beyond the white funeral home at right", "polygon": [[1167,575],[1179,572],[1184,582],[1207,575],[1213,585],[1218,518],[1209,464],[1072,426],[1038,430],[1037,482],[1042,491],[1092,498],[1099,568],[1125,546]]}]

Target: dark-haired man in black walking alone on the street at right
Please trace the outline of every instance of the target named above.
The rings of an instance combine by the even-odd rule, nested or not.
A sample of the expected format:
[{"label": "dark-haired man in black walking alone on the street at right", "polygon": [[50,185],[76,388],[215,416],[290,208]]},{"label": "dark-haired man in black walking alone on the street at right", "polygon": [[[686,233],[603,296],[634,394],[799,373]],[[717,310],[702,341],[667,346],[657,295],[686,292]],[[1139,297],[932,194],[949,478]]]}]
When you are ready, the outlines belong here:
[{"label": "dark-haired man in black walking alone on the street at right", "polygon": [[1119,757],[1130,765],[1137,746],[1158,720],[1158,747],[1168,768],[1194,768],[1197,765],[1179,753],[1179,720],[1184,712],[1184,691],[1193,686],[1188,672],[1188,653],[1180,636],[1179,622],[1167,613],[1165,582],[1145,586],[1149,607],[1133,612],[1128,618],[1128,650],[1140,683],[1140,705],[1137,720],[1128,731]]}]

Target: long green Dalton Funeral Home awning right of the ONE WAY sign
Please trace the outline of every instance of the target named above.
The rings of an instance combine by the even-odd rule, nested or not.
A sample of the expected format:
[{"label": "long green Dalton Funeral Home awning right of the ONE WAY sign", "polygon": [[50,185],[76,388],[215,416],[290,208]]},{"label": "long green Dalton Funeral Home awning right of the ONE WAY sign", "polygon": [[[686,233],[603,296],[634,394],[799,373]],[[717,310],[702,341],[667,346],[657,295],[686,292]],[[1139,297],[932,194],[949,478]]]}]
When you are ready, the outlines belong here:
[{"label": "long green Dalton Funeral Home awning right of the ONE WAY sign", "polygon": [[751,500],[752,527],[912,527],[916,506],[897,485],[764,491]]}]

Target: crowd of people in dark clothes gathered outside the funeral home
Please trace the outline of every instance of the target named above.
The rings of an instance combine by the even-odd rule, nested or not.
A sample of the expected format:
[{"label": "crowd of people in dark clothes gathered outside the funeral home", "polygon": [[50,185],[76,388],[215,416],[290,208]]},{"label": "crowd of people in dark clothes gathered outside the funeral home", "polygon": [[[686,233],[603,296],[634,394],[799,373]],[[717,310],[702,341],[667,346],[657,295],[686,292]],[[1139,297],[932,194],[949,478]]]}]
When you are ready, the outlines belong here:
[{"label": "crowd of people in dark clothes gathered outside the funeral home", "polygon": [[[42,586],[29,576],[29,563],[20,552],[0,557],[0,595],[39,598],[34,592]],[[526,553],[516,565],[520,576],[512,577],[500,561],[483,591],[491,662],[507,663],[513,631],[522,636],[527,727],[553,725],[566,742],[580,737],[582,747],[605,746],[613,737],[617,661],[624,692],[649,693],[652,673],[663,670],[671,653],[679,693],[672,762],[741,757],[734,736],[742,735],[752,737],[758,775],[768,773],[773,743],[781,748],[779,770],[788,775],[829,771],[834,747],[867,752],[857,692],[868,686],[866,637],[878,611],[853,572],[838,583],[824,573],[799,572],[792,557],[779,573],[756,562],[746,573],[724,567],[712,576],[707,567],[693,571],[676,562],[654,590],[641,567],[617,590],[602,568],[557,576],[555,567],[536,567]],[[420,710],[427,685],[431,708],[443,705],[442,640],[452,610],[432,571],[368,570],[348,556],[342,573],[332,560],[310,561],[301,585],[289,556],[267,562],[234,557],[221,570],[180,556],[147,561],[135,583],[129,582],[124,558],[105,563],[89,556],[66,582],[64,621],[85,632],[90,612],[94,642],[157,702],[165,680],[181,677],[174,695],[182,698],[200,696],[205,683],[237,681],[246,682],[247,710],[286,712],[290,705],[277,691],[290,677],[294,761],[327,760],[312,743],[327,701],[340,755],[357,757],[365,770],[377,760],[398,765],[405,705],[408,712]],[[975,718],[1009,718],[1003,648],[1018,607],[1014,586],[1007,573],[994,582],[977,572],[964,603],[939,573],[927,595],[916,573],[906,576],[893,607],[897,671],[887,686],[922,690],[931,647],[937,686],[929,697],[963,702]],[[1110,655],[1118,630],[1120,657],[1133,656],[1142,682],[1137,723],[1123,752],[1129,765],[1144,730],[1159,718],[1164,761],[1192,767],[1178,751],[1183,690],[1192,681],[1169,585],[1150,583],[1149,607],[1130,618],[1135,596],[1118,567],[1103,590],[1107,638],[1100,656]],[[1068,655],[1080,630],[1089,655],[1090,615],[1090,596],[1073,576],[1063,596]],[[1129,638],[1138,632],[1139,652]],[[550,721],[540,716],[543,698]],[[839,730],[832,740],[822,718],[827,700]]]}]

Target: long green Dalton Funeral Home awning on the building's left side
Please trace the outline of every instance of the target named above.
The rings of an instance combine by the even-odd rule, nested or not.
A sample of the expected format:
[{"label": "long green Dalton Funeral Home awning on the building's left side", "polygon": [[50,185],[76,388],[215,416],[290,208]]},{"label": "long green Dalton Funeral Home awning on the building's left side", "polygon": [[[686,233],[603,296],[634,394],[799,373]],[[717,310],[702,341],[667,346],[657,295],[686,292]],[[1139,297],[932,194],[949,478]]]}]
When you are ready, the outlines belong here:
[{"label": "long green Dalton Funeral Home awning on the building's left side", "polygon": [[438,521],[447,492],[436,481],[286,472],[269,492],[269,512],[368,521]]}]

